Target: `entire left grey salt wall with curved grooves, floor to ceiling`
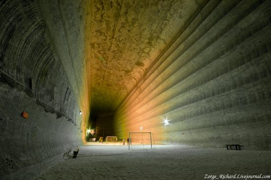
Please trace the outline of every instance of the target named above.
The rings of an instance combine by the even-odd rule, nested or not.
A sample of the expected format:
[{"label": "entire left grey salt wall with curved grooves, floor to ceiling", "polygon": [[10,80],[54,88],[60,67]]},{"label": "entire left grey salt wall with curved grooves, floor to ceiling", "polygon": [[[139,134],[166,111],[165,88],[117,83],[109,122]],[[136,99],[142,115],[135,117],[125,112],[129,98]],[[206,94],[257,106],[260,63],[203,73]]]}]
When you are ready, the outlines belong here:
[{"label": "entire left grey salt wall with curved grooves, floor to ceiling", "polygon": [[81,27],[53,2],[40,3],[0,1],[0,179],[31,179],[82,144]]}]

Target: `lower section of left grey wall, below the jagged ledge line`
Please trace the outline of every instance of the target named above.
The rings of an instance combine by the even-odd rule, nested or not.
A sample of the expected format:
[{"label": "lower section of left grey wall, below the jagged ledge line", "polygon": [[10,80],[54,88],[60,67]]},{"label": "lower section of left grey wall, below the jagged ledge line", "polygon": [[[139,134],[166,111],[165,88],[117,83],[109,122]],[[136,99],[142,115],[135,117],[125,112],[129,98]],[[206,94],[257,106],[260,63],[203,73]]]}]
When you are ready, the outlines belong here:
[{"label": "lower section of left grey wall, below the jagged ledge line", "polygon": [[[80,122],[46,112],[35,98],[6,84],[0,99],[1,179],[31,179],[81,145]],[[20,117],[23,111],[28,119]]]}]

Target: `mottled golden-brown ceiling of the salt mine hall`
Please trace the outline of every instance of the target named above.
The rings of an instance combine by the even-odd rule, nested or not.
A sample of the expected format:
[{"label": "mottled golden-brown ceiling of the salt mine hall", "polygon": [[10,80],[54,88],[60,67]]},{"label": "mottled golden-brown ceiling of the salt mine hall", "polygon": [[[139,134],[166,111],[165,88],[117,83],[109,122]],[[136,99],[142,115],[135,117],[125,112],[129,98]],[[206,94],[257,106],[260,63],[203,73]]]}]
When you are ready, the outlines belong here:
[{"label": "mottled golden-brown ceiling of the salt mine hall", "polygon": [[84,39],[90,66],[91,112],[113,113],[205,3],[87,1]]}]

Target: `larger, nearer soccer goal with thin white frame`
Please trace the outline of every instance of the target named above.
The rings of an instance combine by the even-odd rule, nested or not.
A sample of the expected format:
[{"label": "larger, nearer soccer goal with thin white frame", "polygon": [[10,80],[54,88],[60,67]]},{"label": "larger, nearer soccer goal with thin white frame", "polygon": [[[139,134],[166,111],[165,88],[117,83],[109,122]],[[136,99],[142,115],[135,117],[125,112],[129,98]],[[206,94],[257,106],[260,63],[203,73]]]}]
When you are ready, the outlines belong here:
[{"label": "larger, nearer soccer goal with thin white frame", "polygon": [[129,150],[155,149],[154,138],[151,132],[130,132]]}]

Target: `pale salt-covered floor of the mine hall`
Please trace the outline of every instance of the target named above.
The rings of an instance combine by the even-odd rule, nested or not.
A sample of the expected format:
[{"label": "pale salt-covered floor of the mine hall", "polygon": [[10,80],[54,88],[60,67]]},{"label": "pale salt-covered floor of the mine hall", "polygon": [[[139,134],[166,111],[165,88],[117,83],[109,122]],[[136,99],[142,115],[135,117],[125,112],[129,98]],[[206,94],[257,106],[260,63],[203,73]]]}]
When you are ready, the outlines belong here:
[{"label": "pale salt-covered floor of the mine hall", "polygon": [[224,180],[235,180],[226,178],[227,174],[237,174],[236,180],[258,180],[237,176],[271,175],[268,150],[155,148],[128,150],[127,145],[86,144],[80,147],[77,158],[56,164],[35,180],[222,180],[221,175]]}]

